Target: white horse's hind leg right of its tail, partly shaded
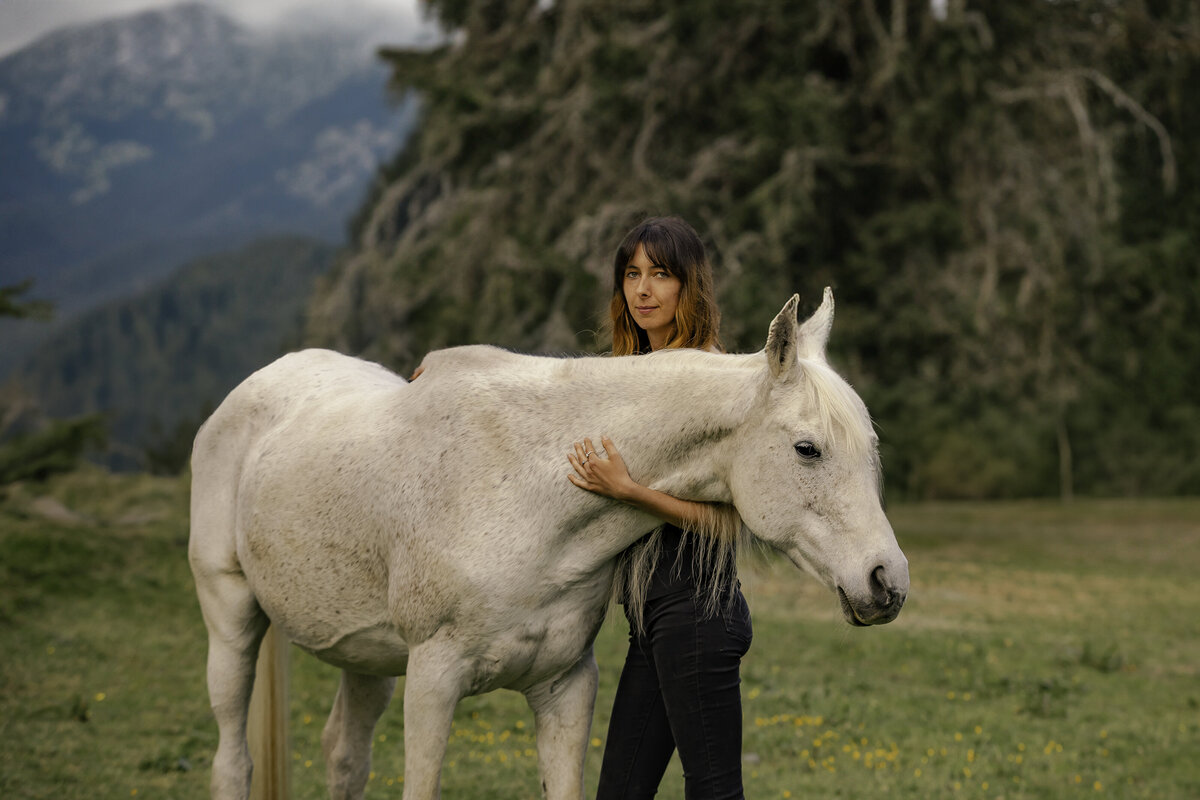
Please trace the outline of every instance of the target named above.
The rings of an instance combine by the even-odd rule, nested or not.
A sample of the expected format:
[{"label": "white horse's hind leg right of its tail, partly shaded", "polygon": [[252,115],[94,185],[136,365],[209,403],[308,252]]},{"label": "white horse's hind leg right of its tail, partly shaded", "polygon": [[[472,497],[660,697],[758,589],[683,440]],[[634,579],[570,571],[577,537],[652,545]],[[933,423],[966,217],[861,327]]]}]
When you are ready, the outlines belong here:
[{"label": "white horse's hind leg right of its tail, partly shaded", "polygon": [[371,735],[395,690],[395,678],[342,670],[334,711],[320,734],[325,778],[332,800],[362,796],[371,775]]}]

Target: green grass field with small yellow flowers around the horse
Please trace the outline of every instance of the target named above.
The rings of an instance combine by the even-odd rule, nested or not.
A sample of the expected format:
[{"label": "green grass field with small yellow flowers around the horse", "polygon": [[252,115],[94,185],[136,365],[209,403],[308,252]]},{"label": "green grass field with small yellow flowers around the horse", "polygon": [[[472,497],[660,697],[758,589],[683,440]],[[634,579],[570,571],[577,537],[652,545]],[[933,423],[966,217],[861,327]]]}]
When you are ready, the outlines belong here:
[{"label": "green grass field with small yellow flowers around the horse", "polygon": [[[0,501],[0,798],[208,796],[216,727],[184,481],[85,471]],[[1200,500],[899,506],[912,591],[856,630],[832,595],[743,561],[749,798],[1200,798]],[[596,643],[599,742],[624,650]],[[293,796],[324,798],[336,672],[293,654]],[[446,798],[538,796],[533,718],[460,705]],[[400,702],[367,796],[398,798]],[[678,764],[660,796],[682,798]]]}]

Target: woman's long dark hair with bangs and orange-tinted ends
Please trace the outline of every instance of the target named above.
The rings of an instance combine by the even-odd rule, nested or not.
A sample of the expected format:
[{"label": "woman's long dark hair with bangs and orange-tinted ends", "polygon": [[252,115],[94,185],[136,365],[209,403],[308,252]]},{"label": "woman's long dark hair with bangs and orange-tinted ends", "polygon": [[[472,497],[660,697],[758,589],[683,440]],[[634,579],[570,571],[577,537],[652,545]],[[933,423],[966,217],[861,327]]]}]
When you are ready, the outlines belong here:
[{"label": "woman's long dark hair with bangs and orange-tinted ends", "polygon": [[676,306],[676,330],[667,348],[720,349],[718,333],[721,313],[713,300],[713,267],[708,263],[704,245],[695,229],[679,217],[652,217],[625,235],[613,258],[612,302],[608,314],[612,319],[612,354],[636,355],[650,351],[646,331],[634,321],[625,302],[625,270],[634,260],[637,246],[646,249],[646,257],[655,266],[661,266],[679,278],[679,302]]}]

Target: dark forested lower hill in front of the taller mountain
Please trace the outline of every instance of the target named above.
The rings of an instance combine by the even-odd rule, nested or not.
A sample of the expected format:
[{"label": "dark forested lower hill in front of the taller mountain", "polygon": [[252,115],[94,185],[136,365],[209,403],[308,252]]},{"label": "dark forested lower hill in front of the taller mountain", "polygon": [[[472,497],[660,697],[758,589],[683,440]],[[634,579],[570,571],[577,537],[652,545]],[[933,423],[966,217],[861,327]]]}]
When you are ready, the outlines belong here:
[{"label": "dark forested lower hill in front of the taller mountain", "polygon": [[[80,314],[12,375],[52,417],[102,413],[116,467],[202,415],[300,341],[305,303],[336,249],[298,236],[203,257]],[[186,456],[186,450],[184,456]]]}]

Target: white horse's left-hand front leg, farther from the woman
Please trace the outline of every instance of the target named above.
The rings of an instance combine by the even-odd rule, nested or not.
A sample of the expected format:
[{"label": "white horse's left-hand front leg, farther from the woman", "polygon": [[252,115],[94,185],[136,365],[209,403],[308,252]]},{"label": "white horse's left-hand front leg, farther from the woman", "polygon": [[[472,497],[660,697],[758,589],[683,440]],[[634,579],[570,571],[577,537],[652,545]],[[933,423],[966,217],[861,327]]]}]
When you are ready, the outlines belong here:
[{"label": "white horse's left-hand front leg, farther from the woman", "polygon": [[425,643],[408,657],[404,678],[404,800],[436,800],[454,710],[466,693],[467,663],[449,648]]}]

